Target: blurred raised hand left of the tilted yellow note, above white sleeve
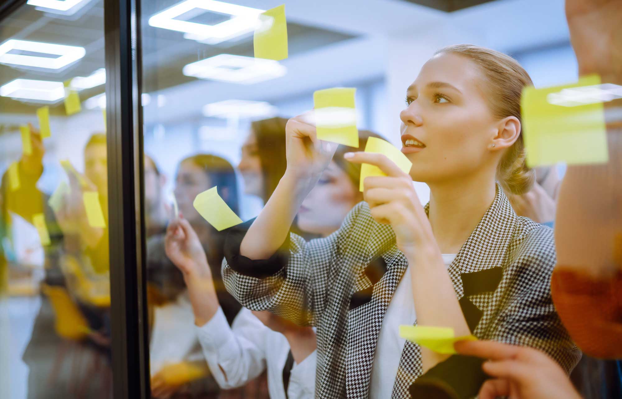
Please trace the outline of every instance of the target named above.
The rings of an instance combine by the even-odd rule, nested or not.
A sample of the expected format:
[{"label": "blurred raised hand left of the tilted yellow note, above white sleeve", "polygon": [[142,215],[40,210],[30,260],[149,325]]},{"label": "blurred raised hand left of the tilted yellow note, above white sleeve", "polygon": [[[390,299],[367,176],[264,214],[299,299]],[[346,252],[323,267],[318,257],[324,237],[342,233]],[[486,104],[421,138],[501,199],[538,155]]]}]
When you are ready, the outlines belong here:
[{"label": "blurred raised hand left of the tilted yellow note, above white sleeve", "polygon": [[188,220],[183,217],[171,220],[164,240],[166,255],[184,276],[211,275],[203,245]]}]

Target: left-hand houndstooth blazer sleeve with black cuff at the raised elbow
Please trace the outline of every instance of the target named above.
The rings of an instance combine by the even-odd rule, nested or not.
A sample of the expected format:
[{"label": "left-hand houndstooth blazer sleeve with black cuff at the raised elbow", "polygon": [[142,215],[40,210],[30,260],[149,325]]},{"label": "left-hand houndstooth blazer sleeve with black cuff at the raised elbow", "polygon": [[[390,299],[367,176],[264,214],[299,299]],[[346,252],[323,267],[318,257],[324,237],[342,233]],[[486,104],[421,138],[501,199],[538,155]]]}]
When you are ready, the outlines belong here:
[{"label": "left-hand houndstooth blazer sleeve with black cuff at the raised elbow", "polygon": [[[317,324],[326,306],[327,291],[337,273],[343,251],[358,219],[369,212],[364,202],[356,205],[343,224],[325,238],[306,242],[290,233],[281,248],[266,260],[251,260],[239,253],[239,246],[252,220],[230,229],[222,265],[226,289],[249,309],[269,310],[301,326]],[[360,240],[359,240],[360,241]],[[360,244],[358,250],[361,250]]]}]

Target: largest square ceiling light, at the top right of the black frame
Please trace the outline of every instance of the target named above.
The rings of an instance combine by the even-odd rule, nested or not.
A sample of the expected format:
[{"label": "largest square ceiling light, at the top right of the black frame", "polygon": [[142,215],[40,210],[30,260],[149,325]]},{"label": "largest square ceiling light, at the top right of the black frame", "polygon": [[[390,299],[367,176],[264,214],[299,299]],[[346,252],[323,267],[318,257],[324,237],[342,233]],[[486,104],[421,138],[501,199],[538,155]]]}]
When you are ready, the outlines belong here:
[{"label": "largest square ceiling light, at the top right of the black frame", "polygon": [[[195,8],[230,15],[231,18],[215,25],[175,19]],[[216,0],[185,0],[160,11],[149,18],[149,25],[184,32],[187,39],[216,44],[254,31],[258,16],[264,10]]]}]

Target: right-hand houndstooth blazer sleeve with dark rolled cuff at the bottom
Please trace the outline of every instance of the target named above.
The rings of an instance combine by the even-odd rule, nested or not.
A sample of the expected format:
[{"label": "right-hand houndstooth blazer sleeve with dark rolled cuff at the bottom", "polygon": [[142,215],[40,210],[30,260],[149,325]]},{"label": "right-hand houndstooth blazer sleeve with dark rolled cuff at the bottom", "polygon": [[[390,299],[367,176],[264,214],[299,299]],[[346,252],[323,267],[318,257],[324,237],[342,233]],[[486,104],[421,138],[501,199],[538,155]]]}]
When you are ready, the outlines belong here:
[{"label": "right-hand houndstooth blazer sleeve with dark rolled cuff at the bottom", "polygon": [[[480,321],[488,326],[476,335],[542,350],[570,373],[581,352],[551,299],[550,278],[555,265],[552,230],[544,226],[531,230],[514,248],[511,245],[508,259],[503,278],[491,294],[492,308],[486,309]],[[482,362],[452,355],[417,378],[411,386],[412,397],[475,397],[488,378],[481,370]]]}]

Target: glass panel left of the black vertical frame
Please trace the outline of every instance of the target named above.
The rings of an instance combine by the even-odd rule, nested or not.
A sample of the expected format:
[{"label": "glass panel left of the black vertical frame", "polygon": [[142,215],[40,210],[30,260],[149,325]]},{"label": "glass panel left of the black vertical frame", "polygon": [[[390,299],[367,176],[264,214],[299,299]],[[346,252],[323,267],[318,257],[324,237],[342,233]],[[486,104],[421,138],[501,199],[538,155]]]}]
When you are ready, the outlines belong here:
[{"label": "glass panel left of the black vertical frame", "polygon": [[101,0],[0,21],[0,397],[112,392]]}]

